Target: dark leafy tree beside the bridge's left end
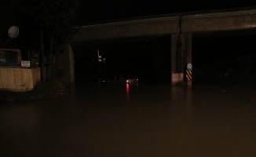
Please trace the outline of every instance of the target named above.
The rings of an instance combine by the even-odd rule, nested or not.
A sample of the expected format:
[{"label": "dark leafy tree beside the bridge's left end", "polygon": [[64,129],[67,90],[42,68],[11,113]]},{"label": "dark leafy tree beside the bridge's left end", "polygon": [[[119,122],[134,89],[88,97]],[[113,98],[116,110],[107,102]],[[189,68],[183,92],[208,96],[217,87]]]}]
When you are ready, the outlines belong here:
[{"label": "dark leafy tree beside the bridge's left end", "polygon": [[[20,24],[27,30],[35,31],[38,41],[33,45],[41,47],[41,68],[46,66],[46,79],[53,79],[56,76],[56,53],[78,31],[73,24],[79,14],[79,0],[12,1]],[[42,79],[45,78],[43,75]]]}]

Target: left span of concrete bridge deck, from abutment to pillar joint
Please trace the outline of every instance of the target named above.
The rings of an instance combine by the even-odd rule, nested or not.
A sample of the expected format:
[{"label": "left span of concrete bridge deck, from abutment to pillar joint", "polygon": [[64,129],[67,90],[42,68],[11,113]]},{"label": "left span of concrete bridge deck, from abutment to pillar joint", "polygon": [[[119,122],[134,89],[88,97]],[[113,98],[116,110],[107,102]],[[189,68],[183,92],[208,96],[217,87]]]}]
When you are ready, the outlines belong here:
[{"label": "left span of concrete bridge deck, from abutment to pillar joint", "polygon": [[144,35],[168,35],[178,33],[179,29],[179,16],[94,24],[81,27],[80,30],[73,35],[70,42],[129,38]]}]

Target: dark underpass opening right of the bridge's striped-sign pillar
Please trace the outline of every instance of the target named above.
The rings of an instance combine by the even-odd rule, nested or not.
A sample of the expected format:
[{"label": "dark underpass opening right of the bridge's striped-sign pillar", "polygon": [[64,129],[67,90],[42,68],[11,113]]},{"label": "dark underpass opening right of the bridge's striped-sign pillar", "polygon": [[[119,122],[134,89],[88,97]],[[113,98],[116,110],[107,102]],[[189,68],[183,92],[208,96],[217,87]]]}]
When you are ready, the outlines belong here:
[{"label": "dark underpass opening right of the bridge's striped-sign pillar", "polygon": [[248,83],[256,78],[256,35],[204,34],[192,39],[193,83]]}]

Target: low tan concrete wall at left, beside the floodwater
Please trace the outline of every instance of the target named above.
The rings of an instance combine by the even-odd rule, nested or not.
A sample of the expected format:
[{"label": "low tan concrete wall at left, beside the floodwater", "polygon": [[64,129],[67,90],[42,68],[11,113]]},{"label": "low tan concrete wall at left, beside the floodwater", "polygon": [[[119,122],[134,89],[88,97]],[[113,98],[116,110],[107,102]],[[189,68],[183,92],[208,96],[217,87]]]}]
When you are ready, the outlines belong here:
[{"label": "low tan concrete wall at left, beside the floodwater", "polygon": [[27,92],[40,81],[40,68],[0,68],[0,90]]}]

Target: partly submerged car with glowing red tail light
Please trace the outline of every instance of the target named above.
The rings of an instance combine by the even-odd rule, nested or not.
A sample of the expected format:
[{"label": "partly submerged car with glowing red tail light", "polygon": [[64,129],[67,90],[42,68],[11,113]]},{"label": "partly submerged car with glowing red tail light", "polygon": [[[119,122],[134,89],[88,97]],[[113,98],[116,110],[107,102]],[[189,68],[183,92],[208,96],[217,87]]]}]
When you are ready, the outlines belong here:
[{"label": "partly submerged car with glowing red tail light", "polygon": [[112,75],[108,79],[109,83],[112,84],[128,84],[128,85],[137,85],[139,79],[134,75]]}]

